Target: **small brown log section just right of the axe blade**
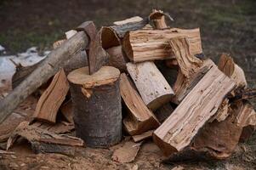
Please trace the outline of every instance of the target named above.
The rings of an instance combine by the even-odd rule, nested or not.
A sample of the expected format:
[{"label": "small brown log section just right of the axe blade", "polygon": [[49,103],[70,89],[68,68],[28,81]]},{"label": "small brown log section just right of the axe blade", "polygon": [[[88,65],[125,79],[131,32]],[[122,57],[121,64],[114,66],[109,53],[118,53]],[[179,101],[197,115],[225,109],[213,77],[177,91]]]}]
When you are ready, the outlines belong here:
[{"label": "small brown log section just right of the axe blade", "polygon": [[122,46],[108,48],[106,52],[109,54],[109,61],[107,65],[116,67],[120,71],[127,71],[126,63],[128,59],[122,52]]}]

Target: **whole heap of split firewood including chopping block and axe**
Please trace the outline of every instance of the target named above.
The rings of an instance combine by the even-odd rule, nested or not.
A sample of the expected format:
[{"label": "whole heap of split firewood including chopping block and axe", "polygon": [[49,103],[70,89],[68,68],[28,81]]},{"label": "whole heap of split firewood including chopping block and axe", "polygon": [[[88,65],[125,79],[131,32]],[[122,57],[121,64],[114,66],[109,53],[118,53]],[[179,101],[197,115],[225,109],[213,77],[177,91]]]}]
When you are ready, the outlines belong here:
[{"label": "whole heap of split firewood including chopping block and axe", "polygon": [[[31,121],[9,135],[8,148],[21,136],[37,152],[70,153],[82,140],[108,147],[128,134],[134,142],[152,137],[173,160],[230,156],[255,128],[247,100],[255,91],[230,55],[222,54],[218,65],[203,55],[198,28],[171,28],[167,19],[173,20],[153,10],[145,19],[117,21],[100,31],[89,21],[66,32],[51,58],[32,72],[37,77],[20,84],[25,92],[14,89],[21,100],[44,83]],[[7,101],[0,109],[12,111]],[[61,134],[74,128],[81,139]]]}]

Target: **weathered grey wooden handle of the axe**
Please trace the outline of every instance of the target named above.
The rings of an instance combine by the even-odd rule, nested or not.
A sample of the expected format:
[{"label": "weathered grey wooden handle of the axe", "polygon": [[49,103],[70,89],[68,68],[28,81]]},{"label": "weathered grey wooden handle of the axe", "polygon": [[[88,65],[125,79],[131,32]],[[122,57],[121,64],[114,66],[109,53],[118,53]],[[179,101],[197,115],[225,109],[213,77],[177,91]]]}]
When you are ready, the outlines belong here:
[{"label": "weathered grey wooden handle of the axe", "polygon": [[61,48],[56,48],[48,54],[48,57],[38,65],[37,69],[0,102],[0,123],[3,122],[22,101],[39,88],[43,82],[48,81],[50,77],[53,77],[55,73],[60,71],[60,68],[65,65],[67,60],[71,59],[73,54],[82,50],[87,44],[88,37],[81,31],[64,42]]}]

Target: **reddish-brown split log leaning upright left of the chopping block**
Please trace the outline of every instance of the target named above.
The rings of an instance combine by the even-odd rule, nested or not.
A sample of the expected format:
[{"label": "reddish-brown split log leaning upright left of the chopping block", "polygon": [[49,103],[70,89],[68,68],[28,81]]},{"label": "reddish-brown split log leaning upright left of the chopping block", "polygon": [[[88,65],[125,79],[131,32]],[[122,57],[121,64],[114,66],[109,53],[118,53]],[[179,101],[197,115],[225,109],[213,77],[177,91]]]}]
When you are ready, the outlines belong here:
[{"label": "reddish-brown split log leaning upright left of the chopping block", "polygon": [[37,102],[33,118],[45,122],[56,122],[60,105],[69,90],[64,70],[59,71]]}]

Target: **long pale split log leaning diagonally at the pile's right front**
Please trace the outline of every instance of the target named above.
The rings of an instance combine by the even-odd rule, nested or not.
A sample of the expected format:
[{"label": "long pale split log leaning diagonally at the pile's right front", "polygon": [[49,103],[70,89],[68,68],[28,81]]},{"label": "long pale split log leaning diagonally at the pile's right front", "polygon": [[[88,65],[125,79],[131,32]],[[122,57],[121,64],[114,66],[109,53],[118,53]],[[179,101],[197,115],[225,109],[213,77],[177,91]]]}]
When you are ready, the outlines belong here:
[{"label": "long pale split log leaning diagonally at the pile's right front", "polygon": [[196,133],[218,111],[225,95],[234,87],[235,82],[213,66],[153,133],[153,139],[163,153],[169,156],[191,144]]}]

